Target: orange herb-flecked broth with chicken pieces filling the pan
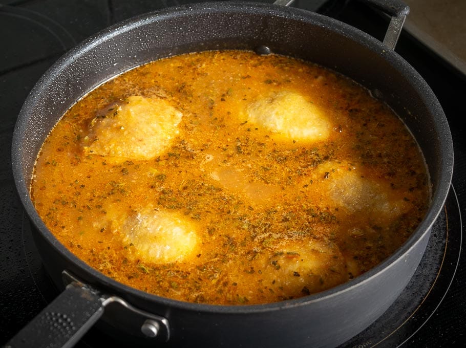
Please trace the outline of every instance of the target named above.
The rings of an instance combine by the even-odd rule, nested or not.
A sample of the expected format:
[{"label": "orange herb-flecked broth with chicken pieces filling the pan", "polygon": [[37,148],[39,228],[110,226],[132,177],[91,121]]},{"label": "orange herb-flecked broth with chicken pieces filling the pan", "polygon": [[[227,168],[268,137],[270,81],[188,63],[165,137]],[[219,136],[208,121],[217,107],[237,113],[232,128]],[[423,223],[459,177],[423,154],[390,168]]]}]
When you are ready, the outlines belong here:
[{"label": "orange herb-flecked broth with chicken pieces filling the pan", "polygon": [[54,127],[31,197],[58,240],[131,287],[220,305],[342,284],[427,211],[399,118],[332,71],[209,51],[99,86]]}]

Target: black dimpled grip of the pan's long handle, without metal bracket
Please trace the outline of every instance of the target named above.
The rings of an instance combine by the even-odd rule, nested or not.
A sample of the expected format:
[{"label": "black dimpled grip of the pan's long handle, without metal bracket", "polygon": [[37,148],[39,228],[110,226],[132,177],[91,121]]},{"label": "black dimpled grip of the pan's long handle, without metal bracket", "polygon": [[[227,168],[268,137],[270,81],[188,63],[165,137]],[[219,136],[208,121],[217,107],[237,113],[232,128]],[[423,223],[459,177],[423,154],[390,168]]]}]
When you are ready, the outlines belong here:
[{"label": "black dimpled grip of the pan's long handle, without metal bracket", "polygon": [[5,348],[72,347],[102,314],[100,296],[87,287],[72,283]]}]

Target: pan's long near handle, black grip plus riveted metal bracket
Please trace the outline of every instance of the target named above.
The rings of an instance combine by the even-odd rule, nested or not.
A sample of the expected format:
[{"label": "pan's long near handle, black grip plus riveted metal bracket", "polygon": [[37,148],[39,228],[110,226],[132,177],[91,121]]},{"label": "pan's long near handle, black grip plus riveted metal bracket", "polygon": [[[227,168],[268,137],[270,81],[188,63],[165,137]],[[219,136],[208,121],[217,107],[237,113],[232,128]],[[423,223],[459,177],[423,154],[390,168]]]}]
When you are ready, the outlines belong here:
[{"label": "pan's long near handle, black grip plus riveted metal bracket", "polygon": [[62,275],[68,284],[65,290],[3,348],[70,348],[111,304],[111,316],[118,316],[120,324],[135,337],[151,338],[154,343],[170,339],[166,318],[140,310],[118,296],[102,294],[68,271]]}]

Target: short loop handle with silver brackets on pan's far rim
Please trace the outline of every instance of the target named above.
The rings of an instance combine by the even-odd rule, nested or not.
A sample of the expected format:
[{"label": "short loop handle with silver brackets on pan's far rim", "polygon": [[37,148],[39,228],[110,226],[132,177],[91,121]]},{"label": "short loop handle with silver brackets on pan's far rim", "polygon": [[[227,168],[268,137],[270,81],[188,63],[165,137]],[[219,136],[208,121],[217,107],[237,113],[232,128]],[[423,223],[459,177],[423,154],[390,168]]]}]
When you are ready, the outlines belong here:
[{"label": "short loop handle with silver brackets on pan's far rim", "polygon": [[[388,14],[390,24],[384,37],[384,44],[391,50],[395,50],[396,42],[403,25],[405,24],[406,16],[409,14],[409,6],[401,0],[359,0],[367,4],[373,5],[375,8],[382,10]],[[290,6],[294,0],[276,0],[274,5]]]}]

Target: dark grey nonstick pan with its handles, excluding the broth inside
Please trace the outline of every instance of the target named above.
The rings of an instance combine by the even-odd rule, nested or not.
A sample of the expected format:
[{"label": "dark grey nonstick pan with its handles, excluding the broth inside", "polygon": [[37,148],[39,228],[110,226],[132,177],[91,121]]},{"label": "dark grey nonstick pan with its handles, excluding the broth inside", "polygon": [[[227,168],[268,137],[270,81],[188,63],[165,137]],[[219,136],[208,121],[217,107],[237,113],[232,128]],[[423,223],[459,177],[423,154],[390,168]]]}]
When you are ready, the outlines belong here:
[{"label": "dark grey nonstick pan with its handles, excluding the broth inside", "polygon": [[[450,189],[453,145],[427,83],[394,52],[409,8],[370,1],[391,17],[383,42],[338,20],[274,4],[215,2],[147,13],[103,30],[42,76],[17,119],[12,165],[44,267],[60,293],[7,346],[72,346],[94,324],[131,346],[332,347],[367,328],[406,287]],[[255,50],[312,61],[366,86],[404,120],[426,159],[429,210],[384,262],[343,285],[299,299],[250,306],[188,303],[145,293],[99,273],[61,245],[29,196],[41,144],[83,95],[140,64],[187,52]]]}]

